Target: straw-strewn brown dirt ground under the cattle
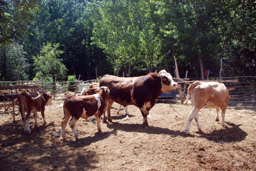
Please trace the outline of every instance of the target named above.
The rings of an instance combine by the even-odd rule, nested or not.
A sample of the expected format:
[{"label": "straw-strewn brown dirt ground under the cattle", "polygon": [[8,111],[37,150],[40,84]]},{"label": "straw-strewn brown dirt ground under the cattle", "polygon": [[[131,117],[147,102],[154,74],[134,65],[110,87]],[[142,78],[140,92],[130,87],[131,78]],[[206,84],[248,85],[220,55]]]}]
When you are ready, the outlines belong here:
[{"label": "straw-strewn brown dirt ground under the cattle", "polygon": [[[1,114],[0,170],[3,171],[202,171],[256,170],[256,102],[230,101],[225,123],[215,121],[215,109],[203,108],[199,113],[202,132],[192,121],[190,134],[184,129],[191,103],[183,106],[178,100],[157,103],[148,119],[150,128],[143,129],[139,109],[129,106],[129,120],[125,108],[120,114],[118,104],[111,109],[112,123],[80,119],[76,123],[79,140],[75,140],[69,125],[66,141],[61,137],[64,99],[53,100],[47,106],[47,124],[38,114],[30,119],[31,134],[26,135],[18,114]],[[220,118],[221,119],[221,118]],[[53,132],[60,136],[55,136]]]}]

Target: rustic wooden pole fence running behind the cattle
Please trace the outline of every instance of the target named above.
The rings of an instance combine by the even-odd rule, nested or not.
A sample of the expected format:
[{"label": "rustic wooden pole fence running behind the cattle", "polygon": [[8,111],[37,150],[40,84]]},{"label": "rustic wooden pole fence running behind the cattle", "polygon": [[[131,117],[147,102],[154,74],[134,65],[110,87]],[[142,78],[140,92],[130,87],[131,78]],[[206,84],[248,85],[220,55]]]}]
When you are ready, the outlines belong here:
[{"label": "rustic wooden pole fence running behind the cattle", "polygon": [[[167,94],[159,96],[159,101],[180,99],[183,104],[184,99],[187,94],[187,84],[190,85],[195,81],[189,81],[190,78],[173,78],[178,83],[178,89],[172,90]],[[89,88],[89,84],[96,81],[78,81],[73,82],[73,85],[67,86],[69,82],[44,82],[42,80],[33,81],[16,81],[16,82],[0,82],[0,114],[12,114],[13,122],[15,122],[15,115],[19,113],[19,104],[17,98],[19,94],[25,91],[35,91],[40,90],[42,92],[51,92],[53,94],[53,99],[57,96],[62,96],[63,98],[71,95],[76,95],[80,93],[83,87]],[[256,76],[239,76],[239,77],[227,77],[227,78],[211,78],[210,80],[205,80],[204,82],[218,81],[225,84],[229,90],[230,99],[233,100],[253,100],[256,99]],[[67,90],[74,90],[70,94],[63,94]],[[234,91],[236,90],[236,91]]]}]

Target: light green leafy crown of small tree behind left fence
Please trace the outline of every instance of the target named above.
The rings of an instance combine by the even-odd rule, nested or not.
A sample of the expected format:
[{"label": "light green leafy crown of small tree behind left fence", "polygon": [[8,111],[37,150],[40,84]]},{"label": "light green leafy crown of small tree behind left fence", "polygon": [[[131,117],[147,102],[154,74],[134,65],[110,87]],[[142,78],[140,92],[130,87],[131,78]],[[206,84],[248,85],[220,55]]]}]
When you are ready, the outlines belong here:
[{"label": "light green leafy crown of small tree behind left fence", "polygon": [[53,45],[51,43],[44,44],[40,54],[33,56],[35,70],[42,71],[45,75],[57,74],[57,78],[64,78],[67,69],[59,58],[64,52],[57,50],[58,47],[59,43]]}]

